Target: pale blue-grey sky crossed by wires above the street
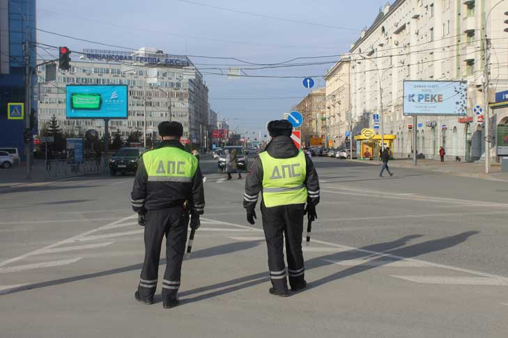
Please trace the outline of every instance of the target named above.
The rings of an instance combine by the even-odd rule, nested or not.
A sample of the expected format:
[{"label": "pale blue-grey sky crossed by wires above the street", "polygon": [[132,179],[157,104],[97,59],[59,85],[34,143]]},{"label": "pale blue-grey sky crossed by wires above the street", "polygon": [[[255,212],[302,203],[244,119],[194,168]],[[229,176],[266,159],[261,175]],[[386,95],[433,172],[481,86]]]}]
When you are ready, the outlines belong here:
[{"label": "pale blue-grey sky crossed by wires above the street", "polygon": [[[315,88],[370,26],[387,0],[38,0],[38,42],[88,49],[156,47],[190,56],[204,75],[210,108],[241,134],[265,133],[269,120],[282,118],[309,93],[300,77],[313,77]],[[84,42],[75,40],[89,40]],[[42,56],[47,56],[40,51]],[[56,51],[52,51],[56,54]],[[206,56],[206,58],[202,57]],[[260,68],[293,61],[323,63]],[[71,54],[71,58],[72,58]],[[77,55],[74,55],[77,58]],[[210,58],[212,57],[212,58]],[[222,58],[237,58],[240,61]],[[228,67],[254,76],[230,79]],[[218,68],[218,69],[217,69]],[[295,77],[281,79],[277,77]],[[276,78],[274,78],[276,77]]]}]

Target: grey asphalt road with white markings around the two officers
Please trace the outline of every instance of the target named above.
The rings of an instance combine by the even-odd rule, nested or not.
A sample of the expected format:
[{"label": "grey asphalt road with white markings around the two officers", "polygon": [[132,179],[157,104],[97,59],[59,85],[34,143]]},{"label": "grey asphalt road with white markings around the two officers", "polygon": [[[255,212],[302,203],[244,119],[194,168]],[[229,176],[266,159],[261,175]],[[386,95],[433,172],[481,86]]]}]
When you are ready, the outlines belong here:
[{"label": "grey asphalt road with white markings around the two officers", "polygon": [[132,176],[1,188],[0,337],[508,336],[507,184],[314,162],[309,288],[268,294],[261,213],[249,225],[245,180],[205,158],[206,211],[170,310],[133,297],[144,247]]}]

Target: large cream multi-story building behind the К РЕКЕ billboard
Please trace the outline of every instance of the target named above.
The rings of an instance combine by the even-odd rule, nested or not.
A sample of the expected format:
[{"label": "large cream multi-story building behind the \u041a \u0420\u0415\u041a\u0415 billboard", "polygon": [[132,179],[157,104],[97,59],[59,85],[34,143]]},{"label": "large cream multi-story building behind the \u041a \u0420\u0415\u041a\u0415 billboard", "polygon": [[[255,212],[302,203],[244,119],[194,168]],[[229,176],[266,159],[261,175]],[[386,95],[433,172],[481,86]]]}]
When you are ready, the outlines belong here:
[{"label": "large cream multi-story building behind the \u041a \u0420\u0415\u041a\u0415 billboard", "polygon": [[[403,115],[403,81],[467,81],[467,115],[475,116],[475,106],[486,106],[482,92],[482,37],[486,26],[491,78],[488,97],[493,102],[494,92],[508,87],[508,67],[503,61],[508,38],[503,31],[503,13],[508,10],[508,2],[499,3],[492,10],[498,2],[397,0],[380,10],[374,24],[362,31],[347,55],[351,58],[349,79],[355,134],[363,127],[374,127],[373,115],[379,113],[385,134],[396,136],[394,156],[410,154],[413,132],[417,134],[415,147],[426,158],[438,156],[440,146],[445,147],[449,159],[475,160],[484,156],[484,124],[476,118],[471,123],[459,123],[458,117],[421,116],[413,131],[408,130],[413,118]],[[328,77],[333,79],[330,74]],[[508,111],[493,114],[491,136],[495,136],[498,124],[507,121]],[[491,156],[495,156],[495,137],[491,145]]]}]

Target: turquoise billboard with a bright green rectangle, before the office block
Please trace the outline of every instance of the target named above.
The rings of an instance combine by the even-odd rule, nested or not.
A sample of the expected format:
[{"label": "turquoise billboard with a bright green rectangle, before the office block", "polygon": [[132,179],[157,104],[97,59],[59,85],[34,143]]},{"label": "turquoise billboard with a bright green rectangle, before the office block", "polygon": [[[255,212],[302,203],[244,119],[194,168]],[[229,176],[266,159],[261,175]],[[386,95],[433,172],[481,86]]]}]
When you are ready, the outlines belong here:
[{"label": "turquoise billboard with a bright green rectangle, before the office block", "polygon": [[128,116],[126,85],[68,85],[67,118],[123,119]]}]

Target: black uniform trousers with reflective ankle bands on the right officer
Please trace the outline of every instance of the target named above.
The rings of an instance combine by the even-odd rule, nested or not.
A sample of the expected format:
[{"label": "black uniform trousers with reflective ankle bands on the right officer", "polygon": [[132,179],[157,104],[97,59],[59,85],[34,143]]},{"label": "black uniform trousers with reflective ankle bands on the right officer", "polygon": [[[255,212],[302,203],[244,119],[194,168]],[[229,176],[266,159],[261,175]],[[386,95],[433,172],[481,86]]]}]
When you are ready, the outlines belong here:
[{"label": "black uniform trousers with reflective ankle bands on the right officer", "polygon": [[270,280],[276,291],[287,289],[286,266],[284,266],[284,239],[291,287],[302,284],[305,277],[302,253],[303,212],[305,204],[265,207],[261,204],[263,230],[268,246]]}]

